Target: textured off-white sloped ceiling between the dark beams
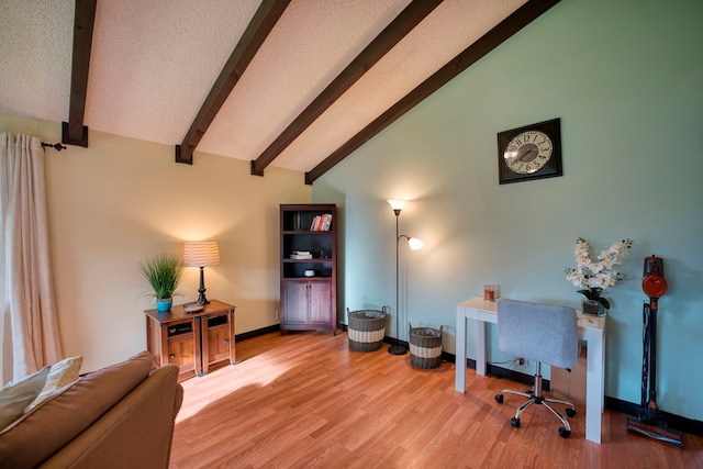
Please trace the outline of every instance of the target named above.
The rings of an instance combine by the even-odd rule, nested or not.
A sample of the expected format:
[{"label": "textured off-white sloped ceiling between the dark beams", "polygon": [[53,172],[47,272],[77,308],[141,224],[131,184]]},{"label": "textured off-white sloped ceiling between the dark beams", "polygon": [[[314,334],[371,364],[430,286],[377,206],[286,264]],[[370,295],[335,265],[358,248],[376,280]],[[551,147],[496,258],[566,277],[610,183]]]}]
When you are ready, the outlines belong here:
[{"label": "textured off-white sloped ceiling between the dark beams", "polygon": [[[83,124],[180,144],[260,3],[98,0]],[[409,3],[292,0],[194,160],[199,150],[256,159]],[[445,0],[271,165],[310,171],[523,3]],[[3,0],[2,10],[0,111],[67,121],[74,2]]]}]

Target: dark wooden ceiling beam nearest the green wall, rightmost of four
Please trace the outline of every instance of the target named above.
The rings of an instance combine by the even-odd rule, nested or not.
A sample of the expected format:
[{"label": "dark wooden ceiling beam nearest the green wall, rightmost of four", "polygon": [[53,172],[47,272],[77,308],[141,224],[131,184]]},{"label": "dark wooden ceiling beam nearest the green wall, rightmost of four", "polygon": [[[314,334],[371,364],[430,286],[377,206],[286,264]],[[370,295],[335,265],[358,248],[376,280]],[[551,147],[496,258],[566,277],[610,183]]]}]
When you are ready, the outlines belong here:
[{"label": "dark wooden ceiling beam nearest the green wall, rightmost of four", "polygon": [[505,20],[501,21],[495,27],[481,36],[481,38],[464,49],[464,52],[451,59],[447,65],[420,83],[410,93],[405,94],[405,97],[393,104],[388,111],[379,115],[373,122],[344,143],[312,170],[305,172],[305,183],[312,185],[317,178],[332,169],[366,142],[378,135],[383,129],[388,127],[429,94],[437,91],[457,75],[469,68],[520,30],[539,18],[551,7],[559,3],[559,1],[560,0],[527,1]]}]

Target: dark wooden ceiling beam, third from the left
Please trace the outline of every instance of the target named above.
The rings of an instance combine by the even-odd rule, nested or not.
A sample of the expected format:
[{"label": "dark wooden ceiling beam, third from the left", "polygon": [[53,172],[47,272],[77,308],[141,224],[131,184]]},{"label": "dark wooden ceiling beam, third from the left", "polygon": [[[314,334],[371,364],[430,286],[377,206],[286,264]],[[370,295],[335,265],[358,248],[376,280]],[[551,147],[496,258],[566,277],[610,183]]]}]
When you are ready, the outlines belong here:
[{"label": "dark wooden ceiling beam, third from the left", "polygon": [[315,98],[298,118],[276,137],[256,159],[252,160],[252,174],[264,176],[270,165],[295,138],[302,134],[325,110],[344,94],[381,59],[395,44],[420,24],[442,0],[411,2],[349,65]]}]

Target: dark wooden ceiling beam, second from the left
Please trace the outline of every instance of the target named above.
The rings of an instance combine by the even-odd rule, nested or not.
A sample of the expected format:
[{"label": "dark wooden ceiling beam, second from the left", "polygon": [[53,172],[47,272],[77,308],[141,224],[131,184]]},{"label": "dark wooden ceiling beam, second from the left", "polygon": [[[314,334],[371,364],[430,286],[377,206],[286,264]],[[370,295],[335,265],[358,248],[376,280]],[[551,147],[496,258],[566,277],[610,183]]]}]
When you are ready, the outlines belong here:
[{"label": "dark wooden ceiling beam, second from the left", "polygon": [[230,59],[222,68],[182,143],[176,145],[176,163],[193,164],[196,147],[289,3],[290,0],[261,2]]}]

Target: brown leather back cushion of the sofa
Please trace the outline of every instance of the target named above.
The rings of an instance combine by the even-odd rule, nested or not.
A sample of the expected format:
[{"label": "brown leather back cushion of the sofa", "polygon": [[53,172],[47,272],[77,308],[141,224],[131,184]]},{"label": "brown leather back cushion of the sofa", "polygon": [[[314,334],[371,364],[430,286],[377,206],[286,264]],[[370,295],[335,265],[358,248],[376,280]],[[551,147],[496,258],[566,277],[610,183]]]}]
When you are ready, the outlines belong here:
[{"label": "brown leather back cushion of the sofa", "polygon": [[0,467],[36,467],[88,428],[149,375],[152,355],[87,373],[0,433]]}]

